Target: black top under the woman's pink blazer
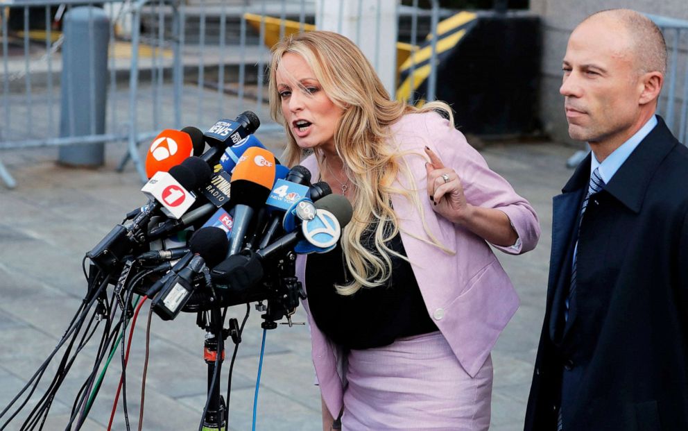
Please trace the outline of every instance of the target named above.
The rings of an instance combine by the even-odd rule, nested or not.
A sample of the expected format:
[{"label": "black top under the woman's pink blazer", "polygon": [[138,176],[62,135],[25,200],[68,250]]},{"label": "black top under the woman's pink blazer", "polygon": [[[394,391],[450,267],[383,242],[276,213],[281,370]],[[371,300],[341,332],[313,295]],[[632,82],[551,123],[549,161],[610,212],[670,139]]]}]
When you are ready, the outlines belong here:
[{"label": "black top under the woman's pink blazer", "polygon": [[[363,244],[374,249],[372,229],[363,233]],[[397,233],[388,247],[406,255]],[[318,328],[343,348],[387,346],[400,337],[438,330],[425,307],[411,264],[390,256],[393,269],[386,285],[362,287],[353,295],[338,294],[334,285],[353,280],[345,269],[341,244],[324,254],[311,254],[306,265],[308,303]]]}]

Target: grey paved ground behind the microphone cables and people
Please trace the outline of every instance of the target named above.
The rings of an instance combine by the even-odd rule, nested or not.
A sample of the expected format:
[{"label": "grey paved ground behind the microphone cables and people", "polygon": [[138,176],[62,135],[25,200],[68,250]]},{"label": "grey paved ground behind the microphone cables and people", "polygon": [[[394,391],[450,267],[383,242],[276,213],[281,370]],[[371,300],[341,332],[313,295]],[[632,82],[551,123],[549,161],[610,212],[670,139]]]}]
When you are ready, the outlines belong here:
[{"label": "grey paved ground behind the microphone cables and people", "polygon": [[[210,115],[206,122],[212,124],[214,118]],[[284,142],[279,133],[259,130],[257,137],[275,151]],[[119,223],[123,214],[146,201],[131,165],[122,174],[114,171],[123,153],[123,144],[107,144],[105,167],[91,170],[56,165],[57,149],[0,154],[18,184],[11,191],[0,187],[0,407],[7,405],[54,348],[74,315],[85,293],[81,270],[85,252]],[[565,160],[571,150],[549,142],[500,142],[487,144],[482,153],[492,169],[533,203],[542,224],[542,238],[535,251],[517,257],[498,253],[522,305],[492,353],[490,429],[519,430],[544,314],[551,196],[558,193],[570,174]],[[232,307],[228,315],[241,319],[245,310],[244,306]],[[142,311],[139,316],[128,366],[132,428],[137,426],[139,411],[146,314]],[[300,309],[295,321],[303,320]],[[259,313],[252,309],[234,367],[231,430],[248,430],[251,426],[260,321]],[[171,322],[153,316],[151,332],[144,429],[196,429],[205,403],[205,334],[196,327],[193,314],[182,314]],[[92,363],[95,340],[92,344],[80,354],[58,393],[46,429],[62,429],[67,423],[71,403]],[[279,326],[268,331],[257,429],[320,429],[320,396],[312,384],[309,348],[305,326]],[[111,368],[85,429],[107,427],[119,379],[119,361],[113,361]],[[227,369],[223,369],[223,391]],[[48,378],[54,370],[51,367]],[[20,423],[12,423],[8,429],[18,429]],[[123,428],[119,412],[114,429]]]}]

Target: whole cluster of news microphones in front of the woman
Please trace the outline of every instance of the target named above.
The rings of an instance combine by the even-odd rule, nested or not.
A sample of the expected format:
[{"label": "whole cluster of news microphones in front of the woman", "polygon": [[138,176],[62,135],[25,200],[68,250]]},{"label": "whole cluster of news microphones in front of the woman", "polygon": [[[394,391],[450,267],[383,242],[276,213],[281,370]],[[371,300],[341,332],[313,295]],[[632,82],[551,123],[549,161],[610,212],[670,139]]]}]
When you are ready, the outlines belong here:
[{"label": "whole cluster of news microphones in front of the woman", "polygon": [[139,290],[164,320],[270,298],[270,320],[289,317],[304,298],[295,253],[332,250],[351,219],[327,183],[279,164],[253,135],[259,125],[247,111],[205,133],[163,130],[146,157],[148,203],[87,253],[118,283],[133,263],[155,265]]}]

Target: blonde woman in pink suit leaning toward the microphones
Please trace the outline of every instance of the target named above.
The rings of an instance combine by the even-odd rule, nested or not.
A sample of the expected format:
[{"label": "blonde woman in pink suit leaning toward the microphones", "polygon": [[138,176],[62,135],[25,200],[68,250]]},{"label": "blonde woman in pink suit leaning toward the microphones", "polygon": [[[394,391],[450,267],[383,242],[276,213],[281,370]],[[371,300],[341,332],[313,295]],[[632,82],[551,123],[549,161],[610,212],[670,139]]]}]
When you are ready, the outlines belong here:
[{"label": "blonde woman in pink suit leaning toward the microphones", "polygon": [[300,256],[323,429],[487,430],[490,350],[519,300],[489,244],[535,247],[531,205],[445,103],[390,100],[346,37],[273,48],[270,112],[302,164],[352,202],[333,251]]}]

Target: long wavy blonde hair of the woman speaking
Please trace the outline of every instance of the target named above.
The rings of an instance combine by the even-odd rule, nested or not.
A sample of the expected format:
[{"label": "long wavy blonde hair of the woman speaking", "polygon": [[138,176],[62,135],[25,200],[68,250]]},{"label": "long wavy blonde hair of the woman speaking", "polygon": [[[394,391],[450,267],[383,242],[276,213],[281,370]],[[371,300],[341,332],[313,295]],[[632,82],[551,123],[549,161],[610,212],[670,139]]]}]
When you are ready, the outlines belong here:
[{"label": "long wavy blonde hair of the woman speaking", "polygon": [[[392,271],[391,255],[406,257],[388,248],[386,242],[399,232],[399,219],[392,208],[391,195],[404,194],[423,210],[418,193],[393,187],[399,174],[413,184],[411,171],[403,162],[390,140],[390,125],[409,112],[441,110],[453,124],[449,105],[433,102],[415,108],[404,101],[391,100],[380,79],[361,50],[343,35],[329,31],[298,33],[275,44],[270,62],[270,115],[284,125],[287,145],[282,155],[287,166],[298,164],[307,151],[301,149],[282,115],[282,105],[277,90],[276,71],[285,53],[301,56],[313,71],[322,90],[330,100],[343,110],[338,120],[334,143],[343,160],[347,177],[354,185],[352,221],[343,233],[342,248],[345,262],[354,280],[338,285],[339,294],[351,295],[361,287],[377,287],[389,280]],[[302,90],[305,90],[302,88]],[[304,94],[308,94],[304,91]],[[323,155],[316,149],[318,167],[322,172]],[[424,155],[421,155],[424,157]],[[373,225],[372,223],[375,223]],[[369,226],[375,226],[375,251],[361,243],[361,235]],[[427,226],[424,242],[444,248],[434,238]],[[411,235],[411,233],[409,233]],[[417,237],[416,235],[413,235]]]}]

